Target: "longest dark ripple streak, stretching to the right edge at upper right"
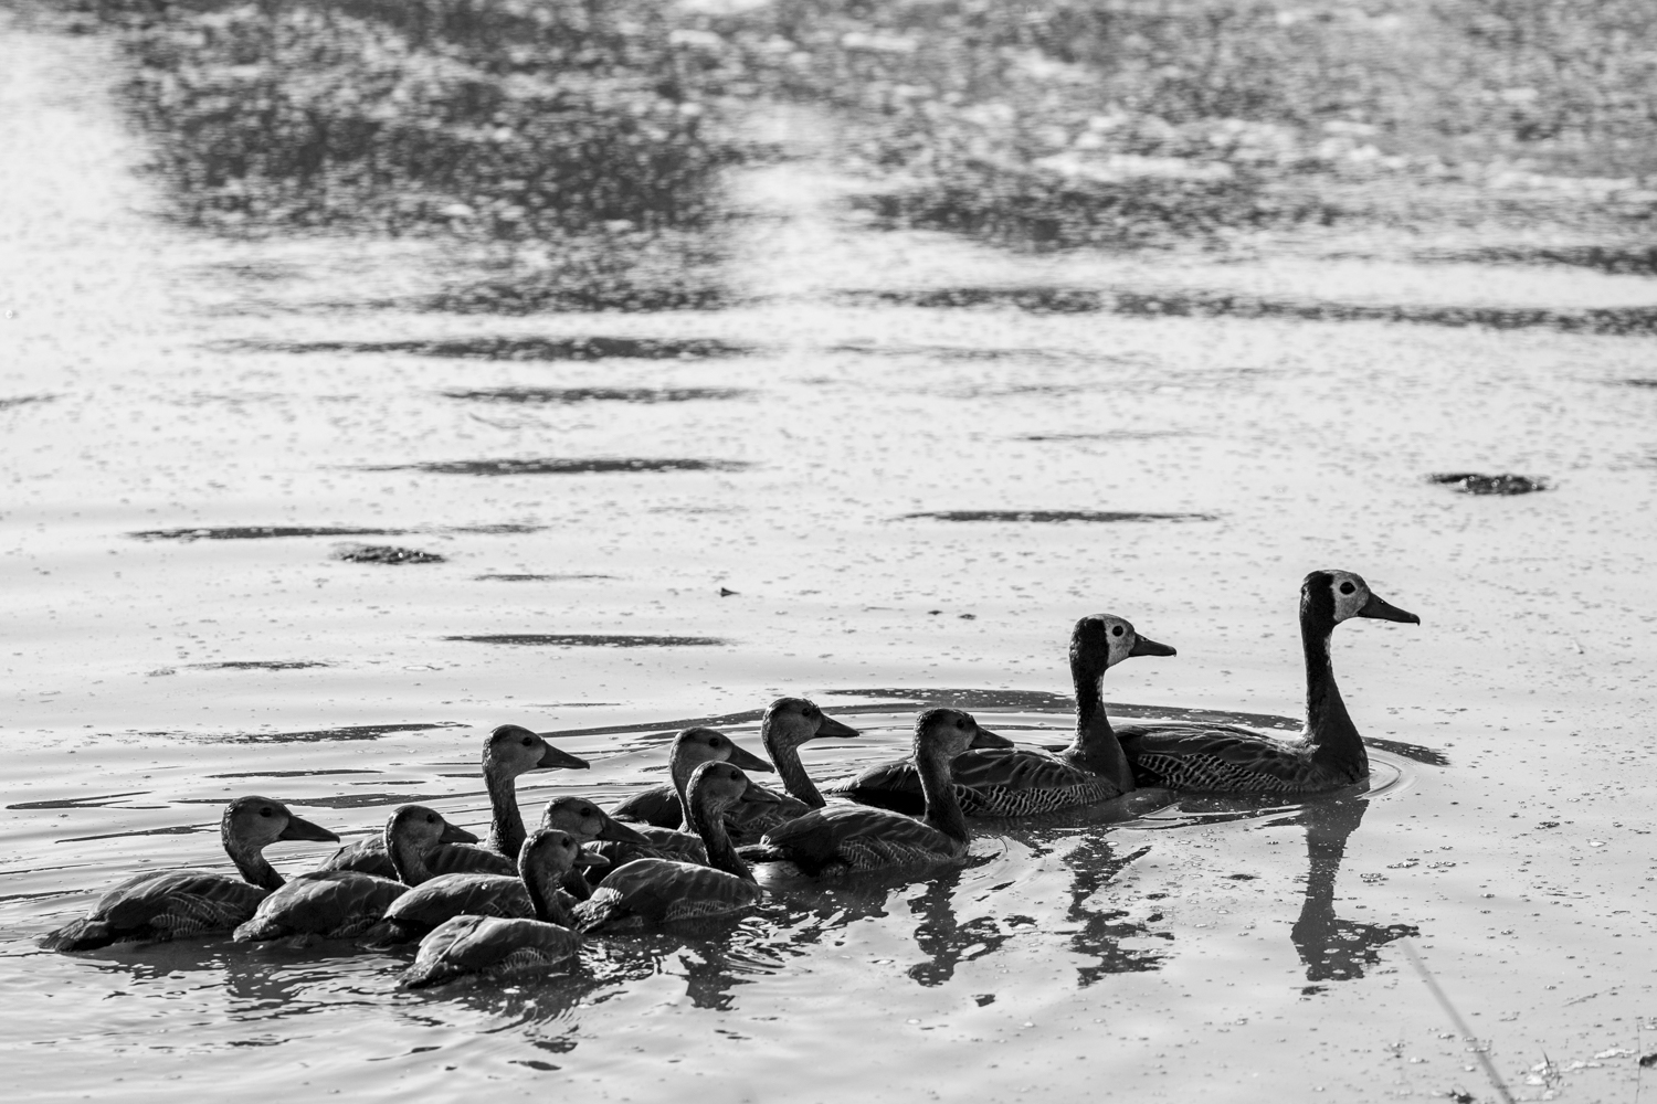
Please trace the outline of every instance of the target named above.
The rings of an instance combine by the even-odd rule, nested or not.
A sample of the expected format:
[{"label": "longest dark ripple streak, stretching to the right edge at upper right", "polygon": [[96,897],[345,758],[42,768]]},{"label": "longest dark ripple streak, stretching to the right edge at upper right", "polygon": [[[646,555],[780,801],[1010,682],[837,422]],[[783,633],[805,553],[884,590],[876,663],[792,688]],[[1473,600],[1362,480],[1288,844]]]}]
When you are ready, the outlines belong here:
[{"label": "longest dark ripple streak, stretching to the right edge at upper right", "polygon": [[1657,306],[1582,311],[1508,306],[1423,306],[1271,300],[1229,291],[1110,291],[1090,288],[935,288],[930,291],[848,291],[852,301],[928,308],[1017,308],[1032,314],[1112,313],[1137,318],[1289,318],[1299,321],[1387,321],[1488,329],[1558,329],[1609,336],[1657,333]]}]

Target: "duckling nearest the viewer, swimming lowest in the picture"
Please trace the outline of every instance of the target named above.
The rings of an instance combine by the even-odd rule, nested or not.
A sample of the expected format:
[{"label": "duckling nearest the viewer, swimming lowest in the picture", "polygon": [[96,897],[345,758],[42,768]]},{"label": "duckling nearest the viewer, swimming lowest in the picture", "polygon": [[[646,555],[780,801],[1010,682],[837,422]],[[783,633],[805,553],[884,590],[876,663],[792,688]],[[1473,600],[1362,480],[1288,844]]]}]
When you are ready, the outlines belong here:
[{"label": "duckling nearest the viewer, swimming lowest in the picture", "polygon": [[[580,862],[580,842],[557,829],[540,829],[519,851],[519,886],[532,902],[530,917],[456,915],[419,943],[399,985],[426,988],[462,977],[500,978],[545,970],[580,950],[558,882]],[[441,881],[441,879],[439,879]],[[419,892],[419,890],[416,890]]]}]

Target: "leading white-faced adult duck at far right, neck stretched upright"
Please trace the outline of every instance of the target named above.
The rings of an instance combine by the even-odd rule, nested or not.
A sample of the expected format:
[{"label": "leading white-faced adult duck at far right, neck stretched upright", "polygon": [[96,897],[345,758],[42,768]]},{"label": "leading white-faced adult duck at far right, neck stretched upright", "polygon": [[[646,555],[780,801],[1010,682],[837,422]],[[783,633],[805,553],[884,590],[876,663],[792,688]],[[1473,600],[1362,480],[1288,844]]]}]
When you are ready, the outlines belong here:
[{"label": "leading white-faced adult duck at far right, neck stretched upright", "polygon": [[1301,583],[1306,655],[1306,728],[1279,740],[1249,728],[1203,723],[1132,725],[1118,732],[1140,785],[1196,793],[1319,793],[1369,776],[1364,738],[1347,713],[1329,659],[1342,621],[1370,617],[1420,624],[1352,571],[1319,569]]}]

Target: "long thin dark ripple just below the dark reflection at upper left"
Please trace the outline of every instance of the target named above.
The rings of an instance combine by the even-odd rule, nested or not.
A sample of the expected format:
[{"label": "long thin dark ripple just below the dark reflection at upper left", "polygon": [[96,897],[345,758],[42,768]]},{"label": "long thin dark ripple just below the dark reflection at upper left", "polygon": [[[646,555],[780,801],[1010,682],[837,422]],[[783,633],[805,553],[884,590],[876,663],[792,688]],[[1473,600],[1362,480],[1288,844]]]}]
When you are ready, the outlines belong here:
[{"label": "long thin dark ripple just below the dark reflection at upper left", "polygon": [[711,338],[447,338],[431,341],[220,341],[230,353],[365,353],[472,361],[698,361],[754,353]]}]

